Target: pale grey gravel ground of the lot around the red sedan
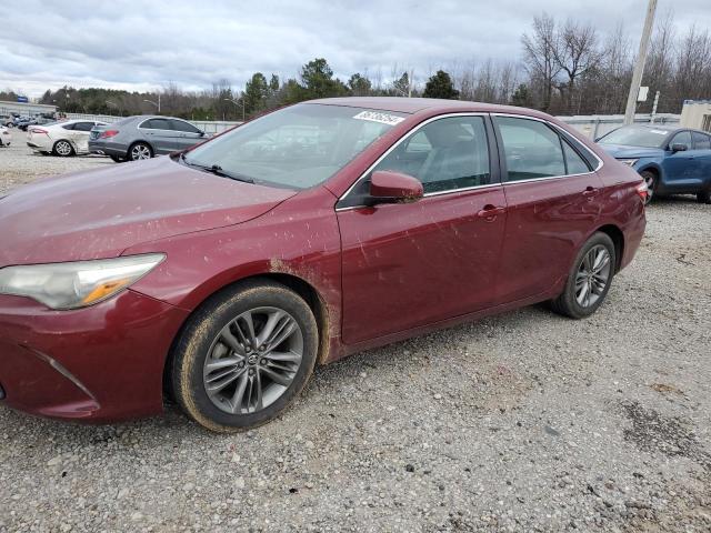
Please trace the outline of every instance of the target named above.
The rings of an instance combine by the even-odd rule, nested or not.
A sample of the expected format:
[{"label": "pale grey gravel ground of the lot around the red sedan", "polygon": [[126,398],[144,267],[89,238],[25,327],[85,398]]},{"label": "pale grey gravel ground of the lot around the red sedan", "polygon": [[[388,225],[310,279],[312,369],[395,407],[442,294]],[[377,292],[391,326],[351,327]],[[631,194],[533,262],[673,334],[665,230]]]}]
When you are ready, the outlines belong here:
[{"label": "pale grey gravel ground of the lot around the red sedan", "polygon": [[[17,142],[0,188],[106,161]],[[648,219],[594,316],[532,306],[352,356],[256,431],[0,410],[0,531],[709,532],[711,205]]]}]

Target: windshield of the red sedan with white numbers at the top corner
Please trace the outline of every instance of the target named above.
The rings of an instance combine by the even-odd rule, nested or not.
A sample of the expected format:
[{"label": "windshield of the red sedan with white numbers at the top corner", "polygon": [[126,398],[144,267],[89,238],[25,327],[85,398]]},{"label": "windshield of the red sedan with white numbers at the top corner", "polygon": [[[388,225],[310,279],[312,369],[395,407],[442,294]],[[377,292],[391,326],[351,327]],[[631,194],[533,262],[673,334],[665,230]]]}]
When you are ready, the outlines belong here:
[{"label": "windshield of the red sedan with white numbers at the top corner", "polygon": [[393,111],[302,103],[236,128],[183,161],[244,181],[308,189],[403,120]]}]

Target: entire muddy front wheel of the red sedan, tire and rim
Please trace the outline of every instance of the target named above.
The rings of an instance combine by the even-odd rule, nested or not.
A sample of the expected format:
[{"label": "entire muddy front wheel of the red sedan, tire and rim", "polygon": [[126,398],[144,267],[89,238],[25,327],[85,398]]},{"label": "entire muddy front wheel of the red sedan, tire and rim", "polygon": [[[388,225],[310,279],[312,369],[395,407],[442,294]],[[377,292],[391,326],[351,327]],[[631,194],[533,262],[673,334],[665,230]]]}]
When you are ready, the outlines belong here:
[{"label": "entire muddy front wheel of the red sedan, tire and rim", "polygon": [[176,400],[211,431],[263,424],[301,392],[318,345],[316,319],[301,296],[269,280],[241,283],[188,321],[172,360]]}]

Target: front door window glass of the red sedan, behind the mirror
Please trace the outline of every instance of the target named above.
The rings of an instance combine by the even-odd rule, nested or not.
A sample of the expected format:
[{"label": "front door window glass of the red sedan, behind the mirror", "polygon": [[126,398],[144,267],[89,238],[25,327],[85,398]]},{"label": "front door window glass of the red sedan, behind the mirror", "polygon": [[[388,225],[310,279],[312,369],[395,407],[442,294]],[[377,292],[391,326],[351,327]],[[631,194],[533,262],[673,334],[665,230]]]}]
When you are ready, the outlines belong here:
[{"label": "front door window glass of the red sedan, behind the mirror", "polygon": [[482,117],[448,117],[405,138],[373,170],[410,174],[424,192],[491,183],[489,143]]}]

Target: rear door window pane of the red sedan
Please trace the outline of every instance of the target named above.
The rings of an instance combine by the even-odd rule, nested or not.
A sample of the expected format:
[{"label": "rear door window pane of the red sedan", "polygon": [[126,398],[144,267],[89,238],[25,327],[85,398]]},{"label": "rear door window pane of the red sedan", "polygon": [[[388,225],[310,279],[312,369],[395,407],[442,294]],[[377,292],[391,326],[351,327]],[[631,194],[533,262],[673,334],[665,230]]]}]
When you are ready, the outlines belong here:
[{"label": "rear door window pane of the red sedan", "polygon": [[567,173],[561,140],[543,122],[513,117],[495,117],[494,121],[503,143],[508,181]]}]

